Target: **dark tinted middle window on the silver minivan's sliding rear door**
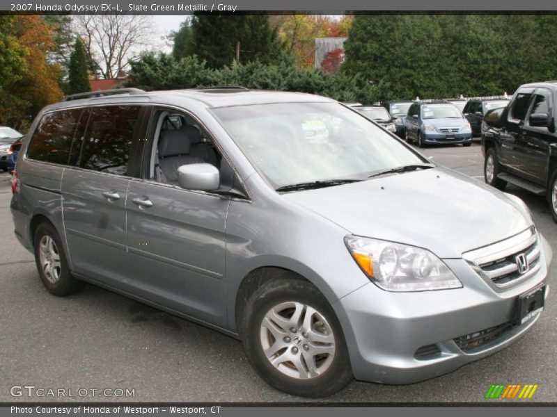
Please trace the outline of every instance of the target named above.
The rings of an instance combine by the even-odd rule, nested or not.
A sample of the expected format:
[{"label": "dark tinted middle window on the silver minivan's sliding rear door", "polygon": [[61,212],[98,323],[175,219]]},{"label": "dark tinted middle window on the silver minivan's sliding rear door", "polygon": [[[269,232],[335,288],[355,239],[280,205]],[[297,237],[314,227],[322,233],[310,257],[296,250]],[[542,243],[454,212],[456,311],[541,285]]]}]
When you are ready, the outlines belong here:
[{"label": "dark tinted middle window on the silver minivan's sliding rear door", "polygon": [[127,175],[127,161],[140,109],[140,106],[93,107],[79,166]]}]

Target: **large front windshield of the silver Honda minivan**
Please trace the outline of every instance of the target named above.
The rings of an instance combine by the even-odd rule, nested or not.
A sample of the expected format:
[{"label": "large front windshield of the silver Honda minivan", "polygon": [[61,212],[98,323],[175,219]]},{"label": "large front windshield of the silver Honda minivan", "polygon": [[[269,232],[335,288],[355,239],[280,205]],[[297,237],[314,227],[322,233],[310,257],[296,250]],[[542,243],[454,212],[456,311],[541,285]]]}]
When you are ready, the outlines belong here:
[{"label": "large front windshield of the silver Honda minivan", "polygon": [[339,185],[427,163],[338,103],[256,104],[212,111],[274,188],[311,182]]}]

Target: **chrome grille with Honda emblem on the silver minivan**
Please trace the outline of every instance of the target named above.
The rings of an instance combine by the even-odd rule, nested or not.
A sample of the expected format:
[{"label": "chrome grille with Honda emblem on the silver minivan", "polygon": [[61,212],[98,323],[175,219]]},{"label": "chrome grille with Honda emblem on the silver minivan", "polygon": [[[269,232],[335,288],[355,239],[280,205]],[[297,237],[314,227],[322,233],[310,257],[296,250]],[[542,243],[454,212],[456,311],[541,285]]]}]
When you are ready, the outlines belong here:
[{"label": "chrome grille with Honda emblem on the silver minivan", "polygon": [[[519,272],[517,256],[524,255],[528,268]],[[499,288],[518,284],[535,275],[541,268],[538,235],[531,227],[512,238],[462,254],[478,274],[490,279]],[[523,265],[524,265],[524,259]]]}]

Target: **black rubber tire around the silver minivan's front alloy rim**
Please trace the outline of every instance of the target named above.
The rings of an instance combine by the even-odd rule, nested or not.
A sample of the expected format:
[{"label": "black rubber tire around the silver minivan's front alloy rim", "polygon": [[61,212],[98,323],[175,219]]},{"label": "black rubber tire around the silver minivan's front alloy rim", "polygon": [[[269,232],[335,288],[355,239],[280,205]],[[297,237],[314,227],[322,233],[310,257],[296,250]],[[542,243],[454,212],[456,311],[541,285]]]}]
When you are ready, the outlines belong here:
[{"label": "black rubber tire around the silver minivan's front alloy rim", "polygon": [[[272,365],[270,359],[265,355],[262,345],[263,320],[271,309],[274,309],[281,303],[288,302],[299,302],[305,306],[313,307],[322,315],[331,329],[334,336],[334,355],[329,361],[328,368],[321,375],[307,379],[285,375],[285,373]],[[304,315],[305,311],[307,310],[304,309]],[[283,348],[283,350],[278,350],[276,355],[281,356],[284,352],[295,352],[300,358],[304,357],[305,359],[306,353],[303,350],[306,350],[308,345],[312,345],[312,343],[309,342],[311,336],[303,333],[302,327],[297,331],[299,333],[298,343],[304,343],[303,345],[299,344],[299,351],[296,350],[295,352],[295,349],[297,349],[296,345],[292,347],[292,344],[296,343],[297,336],[297,333],[292,333],[290,335],[292,336],[292,343],[288,347]],[[346,341],[334,310],[315,286],[293,275],[283,275],[279,279],[269,281],[251,295],[242,314],[241,334],[244,350],[251,366],[267,384],[275,389],[293,395],[320,398],[340,391],[353,379]],[[283,334],[287,335],[287,333]],[[290,338],[288,339],[290,342]],[[278,339],[276,340],[278,341]],[[331,355],[327,355],[327,357],[329,356]],[[297,372],[293,362],[285,361],[283,363],[285,363],[285,365],[282,365],[285,367],[284,369],[291,368],[292,371],[289,372]],[[307,362],[304,360],[301,363],[306,364]],[[317,363],[317,360],[314,363]],[[323,364],[324,362],[321,363]],[[306,366],[306,368],[308,369],[309,367]]]}]

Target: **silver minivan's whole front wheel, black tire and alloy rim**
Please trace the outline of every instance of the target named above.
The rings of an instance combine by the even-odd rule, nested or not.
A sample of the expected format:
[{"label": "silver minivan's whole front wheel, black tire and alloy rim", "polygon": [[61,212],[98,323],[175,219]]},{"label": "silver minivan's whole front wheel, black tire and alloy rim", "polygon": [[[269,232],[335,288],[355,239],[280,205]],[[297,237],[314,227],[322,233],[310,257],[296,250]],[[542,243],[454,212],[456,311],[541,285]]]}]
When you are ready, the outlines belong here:
[{"label": "silver minivan's whole front wheel, black tire and alloy rim", "polygon": [[246,356],[274,388],[324,397],[352,380],[340,323],[307,281],[286,276],[267,282],[250,297],[242,318]]}]

